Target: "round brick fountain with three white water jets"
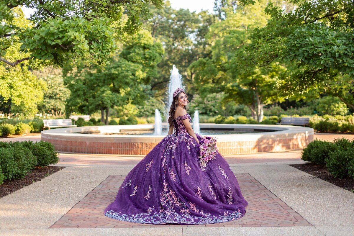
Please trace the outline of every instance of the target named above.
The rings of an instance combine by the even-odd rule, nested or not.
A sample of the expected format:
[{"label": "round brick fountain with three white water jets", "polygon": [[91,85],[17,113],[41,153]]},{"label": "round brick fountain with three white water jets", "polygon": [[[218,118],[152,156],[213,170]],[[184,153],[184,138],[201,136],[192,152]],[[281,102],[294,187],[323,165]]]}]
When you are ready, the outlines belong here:
[{"label": "round brick fountain with three white water jets", "polygon": [[[166,111],[170,109],[172,94],[182,88],[182,76],[175,65],[171,70]],[[168,115],[166,116],[168,117]],[[58,128],[41,132],[41,140],[51,142],[59,152],[90,154],[146,155],[166,134],[161,132],[167,124],[161,122],[155,110],[155,125],[107,125]],[[286,125],[200,124],[195,111],[193,129],[204,134],[217,135],[218,149],[223,155],[303,149],[313,140],[313,129]],[[123,135],[133,131],[138,135]],[[148,133],[142,135],[141,131]],[[154,131],[154,134],[152,134]],[[219,133],[210,133],[219,132]],[[222,132],[220,131],[227,131]],[[238,134],[235,134],[238,133]],[[109,134],[109,135],[107,135]]]}]

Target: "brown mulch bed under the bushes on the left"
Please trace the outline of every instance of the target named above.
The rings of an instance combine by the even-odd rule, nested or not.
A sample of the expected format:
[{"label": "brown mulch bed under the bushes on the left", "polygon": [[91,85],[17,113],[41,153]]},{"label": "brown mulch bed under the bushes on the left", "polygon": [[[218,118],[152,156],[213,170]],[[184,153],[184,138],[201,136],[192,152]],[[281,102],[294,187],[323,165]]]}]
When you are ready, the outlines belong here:
[{"label": "brown mulch bed under the bushes on the left", "polygon": [[64,166],[36,166],[34,170],[31,173],[27,174],[27,176],[25,176],[23,179],[5,181],[3,184],[1,184],[0,198],[11,194],[12,192],[15,192],[19,189],[22,189],[27,185],[33,184],[34,182],[37,182],[47,177],[48,175],[51,175],[64,168]]}]

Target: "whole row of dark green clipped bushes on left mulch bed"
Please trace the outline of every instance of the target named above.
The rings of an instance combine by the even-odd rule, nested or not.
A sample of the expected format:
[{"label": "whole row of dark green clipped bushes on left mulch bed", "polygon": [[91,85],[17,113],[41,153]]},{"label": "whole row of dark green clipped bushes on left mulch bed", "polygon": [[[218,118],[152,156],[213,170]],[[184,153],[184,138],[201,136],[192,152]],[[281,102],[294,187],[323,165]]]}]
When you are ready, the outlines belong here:
[{"label": "whole row of dark green clipped bushes on left mulch bed", "polygon": [[58,161],[58,152],[48,142],[0,142],[0,184],[25,177],[35,166],[48,166]]}]

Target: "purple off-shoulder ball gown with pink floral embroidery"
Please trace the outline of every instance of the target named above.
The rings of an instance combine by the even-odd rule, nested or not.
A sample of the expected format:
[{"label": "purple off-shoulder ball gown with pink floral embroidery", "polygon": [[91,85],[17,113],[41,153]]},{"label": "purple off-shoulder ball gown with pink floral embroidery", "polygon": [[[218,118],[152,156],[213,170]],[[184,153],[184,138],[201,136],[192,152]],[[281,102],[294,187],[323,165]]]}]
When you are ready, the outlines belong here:
[{"label": "purple off-shoulder ball gown with pink floral embroidery", "polygon": [[198,144],[184,119],[191,121],[189,114],[177,117],[174,133],[131,170],[106,216],[147,224],[212,224],[245,214],[248,203],[230,166],[218,152],[205,171],[200,168]]}]

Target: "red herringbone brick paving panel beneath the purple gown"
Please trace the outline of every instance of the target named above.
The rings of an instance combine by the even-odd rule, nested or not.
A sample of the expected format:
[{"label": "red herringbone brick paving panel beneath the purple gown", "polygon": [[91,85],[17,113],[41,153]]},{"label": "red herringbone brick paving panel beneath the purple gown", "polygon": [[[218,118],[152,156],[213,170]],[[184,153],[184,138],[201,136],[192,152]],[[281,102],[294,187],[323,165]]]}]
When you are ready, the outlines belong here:
[{"label": "red herringbone brick paving panel beneath the purple gown", "polygon": [[150,225],[119,221],[104,216],[125,175],[109,175],[50,228],[136,228],[136,227],[249,227],[312,226],[249,174],[236,174],[242,194],[249,202],[244,217],[209,225]]}]

